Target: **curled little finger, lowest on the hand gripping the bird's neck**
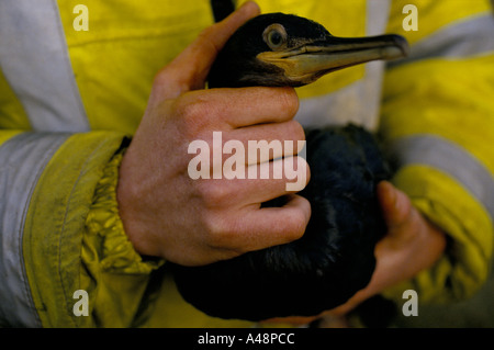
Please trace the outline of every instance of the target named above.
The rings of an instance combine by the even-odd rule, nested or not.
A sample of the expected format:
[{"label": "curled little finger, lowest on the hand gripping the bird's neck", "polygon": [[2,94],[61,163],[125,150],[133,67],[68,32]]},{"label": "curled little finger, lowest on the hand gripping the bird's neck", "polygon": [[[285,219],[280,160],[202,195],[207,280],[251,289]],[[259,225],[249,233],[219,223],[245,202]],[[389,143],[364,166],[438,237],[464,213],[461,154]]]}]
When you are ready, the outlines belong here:
[{"label": "curled little finger, lowest on the hand gripping the bird's neck", "polygon": [[263,207],[243,215],[237,240],[232,244],[243,247],[242,252],[288,244],[303,236],[310,218],[310,202],[291,194],[282,207]]}]

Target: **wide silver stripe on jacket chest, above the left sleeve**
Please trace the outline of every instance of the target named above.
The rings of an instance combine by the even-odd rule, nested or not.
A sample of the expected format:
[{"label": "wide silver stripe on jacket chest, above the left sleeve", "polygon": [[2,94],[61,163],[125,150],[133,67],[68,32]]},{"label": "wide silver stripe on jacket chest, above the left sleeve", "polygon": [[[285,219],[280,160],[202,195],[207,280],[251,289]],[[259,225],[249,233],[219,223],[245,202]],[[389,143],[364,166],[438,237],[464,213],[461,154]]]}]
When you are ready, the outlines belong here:
[{"label": "wide silver stripe on jacket chest, above the left sleeve", "polygon": [[0,65],[33,129],[89,131],[56,0],[0,1]]}]

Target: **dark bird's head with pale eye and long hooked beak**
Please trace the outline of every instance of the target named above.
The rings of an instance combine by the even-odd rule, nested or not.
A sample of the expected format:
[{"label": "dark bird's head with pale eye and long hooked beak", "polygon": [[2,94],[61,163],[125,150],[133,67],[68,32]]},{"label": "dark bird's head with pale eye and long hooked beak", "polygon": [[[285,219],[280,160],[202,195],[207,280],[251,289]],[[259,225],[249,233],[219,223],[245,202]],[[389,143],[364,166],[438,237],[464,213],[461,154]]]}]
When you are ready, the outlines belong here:
[{"label": "dark bird's head with pale eye and long hooked beak", "polygon": [[211,69],[209,86],[300,87],[346,67],[404,57],[407,50],[400,35],[337,37],[314,21],[269,13],[235,32]]}]

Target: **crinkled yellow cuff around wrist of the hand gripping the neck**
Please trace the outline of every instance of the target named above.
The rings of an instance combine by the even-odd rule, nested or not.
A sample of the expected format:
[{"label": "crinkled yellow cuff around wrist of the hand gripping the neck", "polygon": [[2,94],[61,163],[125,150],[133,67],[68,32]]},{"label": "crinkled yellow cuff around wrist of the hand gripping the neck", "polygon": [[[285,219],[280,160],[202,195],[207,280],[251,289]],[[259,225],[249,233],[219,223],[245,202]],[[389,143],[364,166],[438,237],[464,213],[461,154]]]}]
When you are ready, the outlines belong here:
[{"label": "crinkled yellow cuff around wrist of the hand gripping the neck", "polygon": [[[105,272],[124,274],[148,274],[165,262],[162,259],[144,259],[137,253],[128,240],[122,219],[119,215],[116,185],[119,167],[124,149],[117,151],[103,170],[103,176],[94,191],[93,204],[90,207],[86,227],[87,235],[99,239],[86,241],[99,242],[101,269]],[[87,247],[98,249],[98,247]]]}]

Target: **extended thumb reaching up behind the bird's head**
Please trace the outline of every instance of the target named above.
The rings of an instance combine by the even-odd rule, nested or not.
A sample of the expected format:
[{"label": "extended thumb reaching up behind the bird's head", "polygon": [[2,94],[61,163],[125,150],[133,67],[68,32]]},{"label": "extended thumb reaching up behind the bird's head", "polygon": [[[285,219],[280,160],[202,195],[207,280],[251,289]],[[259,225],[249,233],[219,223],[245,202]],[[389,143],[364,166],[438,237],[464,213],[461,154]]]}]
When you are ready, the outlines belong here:
[{"label": "extended thumb reaching up behind the bird's head", "polygon": [[192,44],[157,75],[155,93],[161,99],[176,99],[183,92],[203,89],[217,53],[238,27],[258,14],[259,7],[248,1],[222,22],[203,30]]}]

